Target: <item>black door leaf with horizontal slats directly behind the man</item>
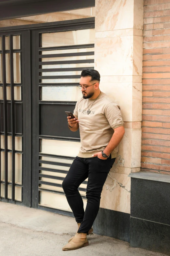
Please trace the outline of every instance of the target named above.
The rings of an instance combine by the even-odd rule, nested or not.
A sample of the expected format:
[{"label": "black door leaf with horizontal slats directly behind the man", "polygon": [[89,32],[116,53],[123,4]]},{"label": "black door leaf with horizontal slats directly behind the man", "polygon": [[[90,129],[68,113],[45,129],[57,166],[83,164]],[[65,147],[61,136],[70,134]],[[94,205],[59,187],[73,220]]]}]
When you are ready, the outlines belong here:
[{"label": "black door leaf with horizontal slats directly behind the man", "polygon": [[[94,18],[55,23],[32,37],[32,207],[71,215],[62,181],[80,147],[64,111],[74,111],[81,71],[94,68]],[[86,205],[87,180],[79,191]]]}]

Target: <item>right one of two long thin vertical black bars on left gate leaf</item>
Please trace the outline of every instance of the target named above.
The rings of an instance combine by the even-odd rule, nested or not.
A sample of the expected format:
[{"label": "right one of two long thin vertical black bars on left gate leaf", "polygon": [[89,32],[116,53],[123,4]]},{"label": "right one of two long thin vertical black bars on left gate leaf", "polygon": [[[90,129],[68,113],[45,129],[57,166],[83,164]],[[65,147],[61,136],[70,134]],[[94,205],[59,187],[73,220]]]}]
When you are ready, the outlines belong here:
[{"label": "right one of two long thin vertical black bars on left gate leaf", "polygon": [[11,78],[11,131],[12,131],[12,201],[15,201],[15,109],[14,109],[14,64],[13,35],[9,36],[10,78]]}]

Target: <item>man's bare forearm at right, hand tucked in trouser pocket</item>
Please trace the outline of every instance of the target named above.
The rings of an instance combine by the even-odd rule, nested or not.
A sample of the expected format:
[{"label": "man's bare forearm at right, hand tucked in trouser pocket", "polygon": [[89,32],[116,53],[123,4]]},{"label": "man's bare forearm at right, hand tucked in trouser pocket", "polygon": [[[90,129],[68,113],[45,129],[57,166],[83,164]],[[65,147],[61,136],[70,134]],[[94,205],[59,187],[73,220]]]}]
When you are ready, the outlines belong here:
[{"label": "man's bare forearm at right, hand tucked in trouser pocket", "polygon": [[[111,140],[109,141],[108,145],[106,148],[103,150],[103,152],[106,154],[106,156],[110,155],[110,153],[119,145],[121,139],[123,138],[123,135],[125,133],[124,127],[120,126],[114,129],[114,133],[111,137]],[[102,157],[102,152],[98,152],[94,155],[93,157],[98,156],[101,159],[106,159]]]}]

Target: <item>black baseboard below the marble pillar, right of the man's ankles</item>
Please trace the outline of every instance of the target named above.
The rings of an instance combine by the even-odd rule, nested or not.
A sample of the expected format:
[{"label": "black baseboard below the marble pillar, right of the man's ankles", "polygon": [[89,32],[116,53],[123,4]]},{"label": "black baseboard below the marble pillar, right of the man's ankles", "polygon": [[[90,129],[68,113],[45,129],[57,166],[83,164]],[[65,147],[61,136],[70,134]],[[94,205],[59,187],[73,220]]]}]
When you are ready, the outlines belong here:
[{"label": "black baseboard below the marble pillar, right of the man's ankles", "polygon": [[130,214],[100,208],[93,224],[94,233],[130,242]]}]

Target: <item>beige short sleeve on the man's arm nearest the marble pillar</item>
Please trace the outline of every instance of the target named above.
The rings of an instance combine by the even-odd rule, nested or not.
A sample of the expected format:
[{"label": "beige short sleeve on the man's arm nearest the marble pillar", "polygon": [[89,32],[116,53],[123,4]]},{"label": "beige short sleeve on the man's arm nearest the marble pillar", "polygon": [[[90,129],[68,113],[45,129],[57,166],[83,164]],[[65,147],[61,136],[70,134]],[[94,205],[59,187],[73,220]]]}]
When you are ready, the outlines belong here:
[{"label": "beige short sleeve on the man's arm nearest the marble pillar", "polygon": [[112,129],[123,126],[123,119],[121,116],[120,107],[117,103],[110,103],[105,109],[105,116]]}]

